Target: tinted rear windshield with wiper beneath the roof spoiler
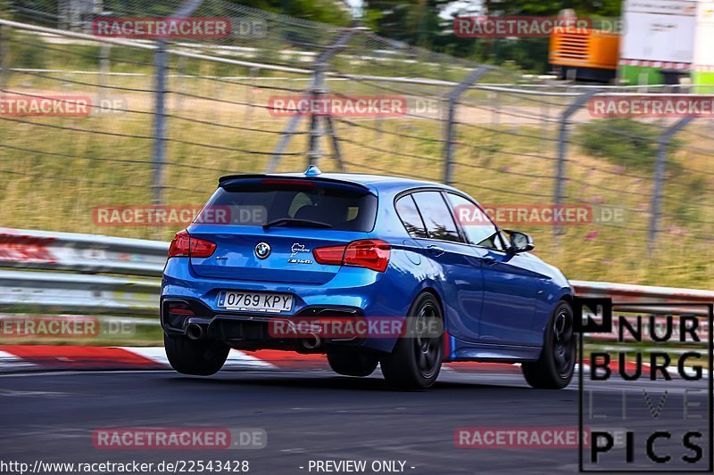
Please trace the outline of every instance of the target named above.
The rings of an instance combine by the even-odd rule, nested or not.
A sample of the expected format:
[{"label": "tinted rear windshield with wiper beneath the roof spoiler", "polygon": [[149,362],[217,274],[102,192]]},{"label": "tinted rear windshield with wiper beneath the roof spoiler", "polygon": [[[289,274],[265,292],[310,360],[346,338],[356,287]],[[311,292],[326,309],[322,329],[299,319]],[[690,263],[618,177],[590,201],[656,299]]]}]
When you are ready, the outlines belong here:
[{"label": "tinted rear windshield with wiper beneath the roof spoiler", "polygon": [[219,188],[194,222],[266,225],[286,220],[278,225],[369,232],[376,212],[377,197],[356,187],[233,184]]}]

